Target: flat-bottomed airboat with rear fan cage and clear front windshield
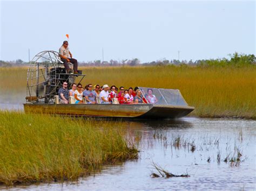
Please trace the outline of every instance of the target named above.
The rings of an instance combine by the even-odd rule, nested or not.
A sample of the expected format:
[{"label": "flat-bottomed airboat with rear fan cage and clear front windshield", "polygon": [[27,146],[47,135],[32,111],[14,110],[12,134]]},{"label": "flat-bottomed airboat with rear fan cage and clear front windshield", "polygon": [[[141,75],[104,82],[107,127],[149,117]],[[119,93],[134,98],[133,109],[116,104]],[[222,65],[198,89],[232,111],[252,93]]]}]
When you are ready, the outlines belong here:
[{"label": "flat-bottomed airboat with rear fan cage and clear front windshield", "polygon": [[[72,66],[72,65],[71,65]],[[56,51],[43,51],[30,62],[27,75],[24,110],[32,114],[121,117],[179,118],[194,110],[188,106],[178,89],[139,87],[144,97],[151,89],[158,102],[154,104],[59,104],[58,90],[63,82],[80,83],[85,74],[68,74]],[[113,102],[115,103],[115,102]]]}]

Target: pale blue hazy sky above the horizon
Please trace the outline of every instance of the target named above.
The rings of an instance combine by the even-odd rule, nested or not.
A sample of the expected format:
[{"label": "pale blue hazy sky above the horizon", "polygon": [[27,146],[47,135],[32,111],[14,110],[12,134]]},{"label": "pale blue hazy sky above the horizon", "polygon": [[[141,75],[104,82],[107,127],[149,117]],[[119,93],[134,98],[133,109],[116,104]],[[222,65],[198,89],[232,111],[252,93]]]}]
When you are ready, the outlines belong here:
[{"label": "pale blue hazy sky above the horizon", "polygon": [[255,54],[255,1],[1,1],[0,60],[55,50],[78,61]]}]

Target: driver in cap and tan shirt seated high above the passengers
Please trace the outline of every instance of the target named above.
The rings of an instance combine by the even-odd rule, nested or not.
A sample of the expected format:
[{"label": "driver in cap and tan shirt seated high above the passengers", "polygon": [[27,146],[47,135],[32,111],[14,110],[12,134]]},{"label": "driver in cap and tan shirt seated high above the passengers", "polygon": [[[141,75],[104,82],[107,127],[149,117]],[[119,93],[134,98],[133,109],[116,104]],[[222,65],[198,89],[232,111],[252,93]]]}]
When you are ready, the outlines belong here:
[{"label": "driver in cap and tan shirt seated high above the passengers", "polygon": [[66,73],[71,73],[71,69],[68,65],[68,62],[73,63],[74,65],[74,74],[78,74],[77,72],[77,60],[73,59],[73,55],[71,54],[71,52],[69,51],[69,42],[68,41],[64,41],[63,45],[59,48],[59,56],[60,59],[64,62],[64,67],[66,69]]}]

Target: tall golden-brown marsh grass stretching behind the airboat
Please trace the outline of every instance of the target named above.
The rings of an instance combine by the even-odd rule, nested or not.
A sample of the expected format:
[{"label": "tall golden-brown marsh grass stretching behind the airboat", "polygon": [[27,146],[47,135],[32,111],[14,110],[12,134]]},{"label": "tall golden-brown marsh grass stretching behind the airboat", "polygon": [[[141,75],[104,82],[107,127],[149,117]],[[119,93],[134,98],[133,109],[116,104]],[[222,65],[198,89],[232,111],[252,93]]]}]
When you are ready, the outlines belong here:
[{"label": "tall golden-brown marsh grass stretching behind the airboat", "polygon": [[[179,89],[196,109],[192,116],[256,118],[256,67],[80,67],[82,81],[129,87]],[[0,68],[3,93],[25,96],[26,68]],[[15,76],[10,78],[10,76]],[[1,95],[0,95],[1,96]],[[2,96],[4,97],[4,96]],[[22,97],[22,99],[23,99]],[[6,98],[7,99],[7,98]],[[9,97],[8,97],[9,99]]]}]

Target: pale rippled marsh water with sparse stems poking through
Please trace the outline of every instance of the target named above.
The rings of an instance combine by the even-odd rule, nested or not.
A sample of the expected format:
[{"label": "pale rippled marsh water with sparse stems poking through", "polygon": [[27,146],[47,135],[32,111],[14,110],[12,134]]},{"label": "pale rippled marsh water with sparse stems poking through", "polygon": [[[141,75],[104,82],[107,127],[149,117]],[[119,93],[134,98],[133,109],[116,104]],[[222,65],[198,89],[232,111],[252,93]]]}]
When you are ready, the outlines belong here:
[{"label": "pale rippled marsh water with sparse stems poking through", "polygon": [[[3,109],[3,105],[1,105]],[[6,107],[5,107],[6,108]],[[14,108],[11,105],[9,109]],[[16,105],[21,109],[22,105]],[[28,190],[255,189],[256,121],[185,117],[122,121],[139,158],[104,166],[77,182],[41,183]],[[118,127],[117,127],[118,128]],[[175,175],[161,176],[153,166]],[[160,175],[153,178],[152,173]]]}]

